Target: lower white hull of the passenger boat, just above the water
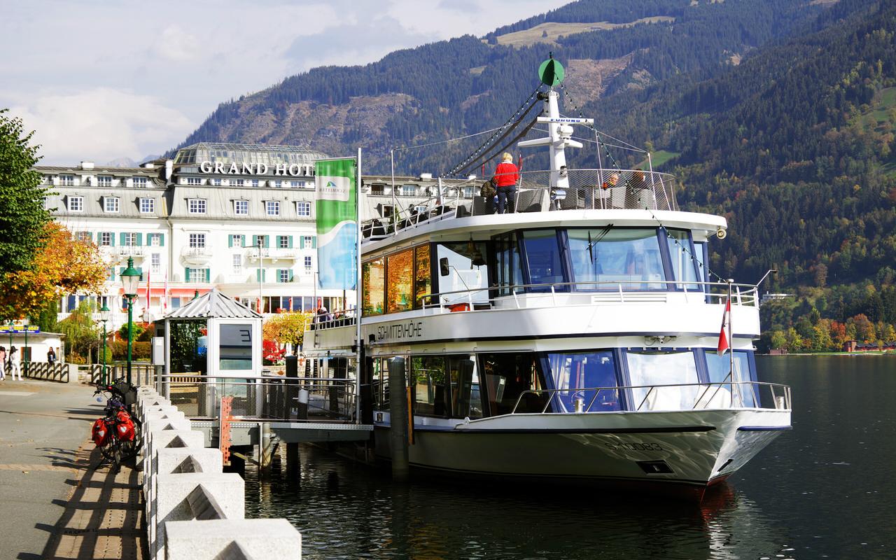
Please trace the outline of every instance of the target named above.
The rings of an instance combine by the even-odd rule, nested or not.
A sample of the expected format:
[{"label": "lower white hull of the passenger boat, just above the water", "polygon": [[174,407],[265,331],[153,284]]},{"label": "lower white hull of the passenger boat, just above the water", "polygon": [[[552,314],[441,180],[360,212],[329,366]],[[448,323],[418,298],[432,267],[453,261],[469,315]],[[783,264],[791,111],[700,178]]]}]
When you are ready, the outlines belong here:
[{"label": "lower white hull of the passenger boat, just above the water", "polygon": [[[458,475],[705,488],[789,426],[788,410],[769,409],[514,414],[416,426],[409,461]],[[388,429],[376,430],[376,452],[391,457]]]}]

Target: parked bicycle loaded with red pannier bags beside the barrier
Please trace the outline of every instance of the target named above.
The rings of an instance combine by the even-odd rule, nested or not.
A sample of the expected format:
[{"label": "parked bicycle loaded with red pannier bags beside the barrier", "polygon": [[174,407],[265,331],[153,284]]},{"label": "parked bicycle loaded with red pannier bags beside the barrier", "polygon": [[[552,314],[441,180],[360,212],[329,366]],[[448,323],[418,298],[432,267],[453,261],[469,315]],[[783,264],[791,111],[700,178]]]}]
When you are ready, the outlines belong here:
[{"label": "parked bicycle loaded with red pannier bags beside the barrier", "polygon": [[[136,387],[125,379],[116,379],[113,383],[98,387],[94,395],[109,395],[106,416],[97,418],[91,428],[93,443],[99,448],[104,461],[120,466],[123,461],[134,457],[142,444],[142,425],[138,418],[131,416],[128,407],[136,400]],[[102,399],[98,399],[102,401]],[[98,465],[99,466],[99,465]]]}]

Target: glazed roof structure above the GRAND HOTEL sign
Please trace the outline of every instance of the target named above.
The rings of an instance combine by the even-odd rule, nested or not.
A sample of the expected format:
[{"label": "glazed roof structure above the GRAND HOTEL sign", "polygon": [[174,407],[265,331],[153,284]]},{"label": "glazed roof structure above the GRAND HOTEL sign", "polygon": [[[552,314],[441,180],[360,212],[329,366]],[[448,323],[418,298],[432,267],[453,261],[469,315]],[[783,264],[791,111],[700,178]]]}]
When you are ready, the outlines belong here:
[{"label": "glazed roof structure above the GRAND HOTEL sign", "polygon": [[181,148],[174,157],[175,165],[199,165],[212,163],[264,163],[273,168],[278,164],[312,164],[329,156],[321,151],[299,146],[266,146],[263,144],[237,144],[229,142],[199,142]]}]

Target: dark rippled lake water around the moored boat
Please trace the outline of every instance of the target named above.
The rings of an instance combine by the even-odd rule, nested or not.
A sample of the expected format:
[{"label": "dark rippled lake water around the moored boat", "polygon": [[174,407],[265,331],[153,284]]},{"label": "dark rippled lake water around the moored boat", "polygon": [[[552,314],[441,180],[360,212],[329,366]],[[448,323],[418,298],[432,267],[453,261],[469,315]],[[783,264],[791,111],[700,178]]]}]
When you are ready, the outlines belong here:
[{"label": "dark rippled lake water around the moored boat", "polygon": [[793,388],[784,433],[702,504],[440,481],[310,446],[292,478],[246,472],[246,517],[286,517],[303,558],[896,558],[896,359],[757,357]]}]

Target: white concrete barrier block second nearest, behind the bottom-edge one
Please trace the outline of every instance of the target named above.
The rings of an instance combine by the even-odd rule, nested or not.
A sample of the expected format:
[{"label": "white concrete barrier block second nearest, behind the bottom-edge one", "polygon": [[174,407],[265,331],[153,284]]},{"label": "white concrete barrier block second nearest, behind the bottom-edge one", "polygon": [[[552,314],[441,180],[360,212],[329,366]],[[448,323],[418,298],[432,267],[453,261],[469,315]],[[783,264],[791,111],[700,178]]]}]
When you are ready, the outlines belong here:
[{"label": "white concrete barrier block second nearest, behind the bottom-edge one", "polygon": [[165,524],[168,521],[193,519],[186,496],[200,485],[214,496],[228,520],[241,520],[246,516],[246,489],[243,478],[235,472],[159,474],[155,490],[156,507],[150,521],[155,526],[155,535],[150,536],[150,551],[154,559],[165,558]]}]

